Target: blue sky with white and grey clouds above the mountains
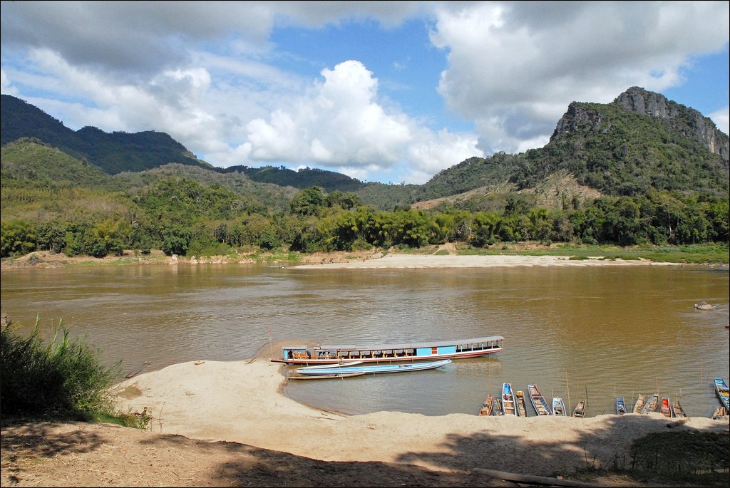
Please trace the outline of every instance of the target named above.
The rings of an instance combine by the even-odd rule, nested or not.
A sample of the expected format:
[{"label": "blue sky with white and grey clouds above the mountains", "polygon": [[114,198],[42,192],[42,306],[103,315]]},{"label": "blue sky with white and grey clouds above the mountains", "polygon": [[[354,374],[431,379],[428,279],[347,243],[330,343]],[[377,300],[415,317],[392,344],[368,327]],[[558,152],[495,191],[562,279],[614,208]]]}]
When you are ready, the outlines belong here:
[{"label": "blue sky with white and grey clouds above the mountains", "polygon": [[201,160],[423,184],[639,86],[729,133],[728,1],[2,1],[1,92]]}]

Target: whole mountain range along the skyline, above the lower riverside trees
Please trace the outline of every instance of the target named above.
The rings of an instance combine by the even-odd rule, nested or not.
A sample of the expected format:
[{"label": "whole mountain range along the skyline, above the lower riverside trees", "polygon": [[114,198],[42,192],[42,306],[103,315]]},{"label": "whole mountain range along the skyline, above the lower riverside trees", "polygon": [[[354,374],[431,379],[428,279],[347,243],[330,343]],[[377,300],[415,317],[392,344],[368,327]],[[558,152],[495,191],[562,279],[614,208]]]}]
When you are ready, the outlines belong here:
[{"label": "whole mountain range along the skyline, above the lower riverside trees", "polygon": [[[465,201],[485,205],[485,200],[507,193],[523,193],[533,204],[548,206],[566,198],[636,196],[650,191],[721,197],[729,193],[728,135],[695,109],[639,87],[629,88],[609,104],[569,104],[545,147],[516,155],[499,152],[488,158],[469,158],[423,185],[364,183],[310,168],[221,169],[200,160],[166,133],[106,133],[95,127],[73,131],[36,106],[9,95],[1,96],[0,112],[3,147],[19,139],[42,143],[80,161],[88,171],[86,176],[93,174],[95,180],[104,179],[102,174],[115,177],[172,164],[177,168],[174,171],[188,172],[194,179],[222,178],[229,186],[247,182],[248,187],[265,184],[301,190],[317,186],[326,192],[356,193],[365,204],[381,209]],[[2,160],[4,182],[49,171],[37,166],[28,173],[23,166],[23,174],[7,160],[9,154],[4,152]],[[55,164],[53,158],[40,159],[39,165]],[[69,179],[64,175],[55,178]],[[121,180],[115,180],[117,185]]]}]

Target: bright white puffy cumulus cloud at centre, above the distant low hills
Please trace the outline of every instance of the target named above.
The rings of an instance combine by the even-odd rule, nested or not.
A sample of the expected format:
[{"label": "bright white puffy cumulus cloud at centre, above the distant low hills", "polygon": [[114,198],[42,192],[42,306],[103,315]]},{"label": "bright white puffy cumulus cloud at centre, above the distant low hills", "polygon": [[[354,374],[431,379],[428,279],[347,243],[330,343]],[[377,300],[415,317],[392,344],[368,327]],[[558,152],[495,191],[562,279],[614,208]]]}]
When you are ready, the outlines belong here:
[{"label": "bright white puffy cumulus cloud at centre, above the distant low hills", "polygon": [[410,142],[408,121],[385,113],[375,100],[377,80],[358,61],[322,71],[307,96],[269,120],[247,124],[254,160],[311,161],[321,166],[361,166],[399,160]]}]

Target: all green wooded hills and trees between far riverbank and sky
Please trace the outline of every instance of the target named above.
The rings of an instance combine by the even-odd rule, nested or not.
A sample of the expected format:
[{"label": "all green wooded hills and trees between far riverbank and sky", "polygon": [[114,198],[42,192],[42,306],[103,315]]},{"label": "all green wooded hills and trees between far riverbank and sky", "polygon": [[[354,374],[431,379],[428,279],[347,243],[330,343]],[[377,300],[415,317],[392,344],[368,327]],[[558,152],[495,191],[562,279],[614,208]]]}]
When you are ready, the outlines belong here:
[{"label": "all green wooded hills and trees between far riverbank and sky", "polygon": [[[637,97],[642,107],[661,104],[664,116],[632,109]],[[729,242],[728,136],[638,88],[612,104],[574,102],[539,150],[470,158],[425,185],[316,169],[215,169],[166,135],[74,132],[7,101],[1,257]],[[17,139],[6,139],[6,125]]]}]

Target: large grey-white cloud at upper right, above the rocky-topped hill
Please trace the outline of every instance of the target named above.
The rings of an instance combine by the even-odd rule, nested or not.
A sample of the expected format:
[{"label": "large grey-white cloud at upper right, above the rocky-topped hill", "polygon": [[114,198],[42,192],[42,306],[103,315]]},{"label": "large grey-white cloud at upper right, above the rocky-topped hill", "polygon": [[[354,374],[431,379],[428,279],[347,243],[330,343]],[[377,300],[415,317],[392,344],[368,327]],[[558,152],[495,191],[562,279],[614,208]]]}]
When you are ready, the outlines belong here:
[{"label": "large grey-white cloud at upper right, above the rocky-topped hill", "polygon": [[723,2],[475,2],[437,9],[448,50],[439,93],[475,120],[480,147],[544,144],[572,101],[679,84],[688,58],[728,42]]}]

